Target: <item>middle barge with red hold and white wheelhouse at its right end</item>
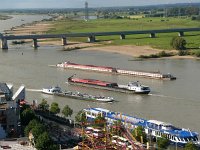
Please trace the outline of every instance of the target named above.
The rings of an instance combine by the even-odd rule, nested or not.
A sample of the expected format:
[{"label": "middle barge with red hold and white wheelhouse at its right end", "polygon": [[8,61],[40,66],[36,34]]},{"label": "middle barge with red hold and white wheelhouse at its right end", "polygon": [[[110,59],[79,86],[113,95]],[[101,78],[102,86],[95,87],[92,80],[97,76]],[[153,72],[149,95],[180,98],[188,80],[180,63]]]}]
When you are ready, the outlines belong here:
[{"label": "middle barge with red hold and white wheelhouse at its right end", "polygon": [[95,79],[81,79],[71,76],[68,78],[68,83],[123,93],[149,94],[150,92],[150,88],[148,86],[141,85],[138,81],[129,82],[128,85],[120,85],[114,82],[107,82]]}]

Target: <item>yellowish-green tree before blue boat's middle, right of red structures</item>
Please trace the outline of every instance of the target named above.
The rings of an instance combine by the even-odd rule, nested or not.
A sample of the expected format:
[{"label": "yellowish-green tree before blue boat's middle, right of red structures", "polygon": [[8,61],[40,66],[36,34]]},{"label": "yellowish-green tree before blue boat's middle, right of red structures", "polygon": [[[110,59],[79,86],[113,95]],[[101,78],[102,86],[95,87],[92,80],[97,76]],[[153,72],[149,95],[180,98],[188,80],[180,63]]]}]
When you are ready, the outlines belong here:
[{"label": "yellowish-green tree before blue boat's middle, right of red structures", "polygon": [[141,141],[143,143],[147,142],[147,135],[142,126],[135,128],[132,132],[132,135],[136,138],[137,141]]}]

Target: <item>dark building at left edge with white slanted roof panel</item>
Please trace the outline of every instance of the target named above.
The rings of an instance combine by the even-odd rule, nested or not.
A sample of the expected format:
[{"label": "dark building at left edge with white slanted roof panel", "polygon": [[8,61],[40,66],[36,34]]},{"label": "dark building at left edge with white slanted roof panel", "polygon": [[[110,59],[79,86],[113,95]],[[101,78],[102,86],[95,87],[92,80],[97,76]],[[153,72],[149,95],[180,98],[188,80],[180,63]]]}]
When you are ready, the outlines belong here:
[{"label": "dark building at left edge with white slanted roof panel", "polygon": [[21,86],[13,96],[13,86],[0,83],[0,139],[16,137],[19,134],[20,118],[17,102],[21,99],[25,99],[24,86]]}]

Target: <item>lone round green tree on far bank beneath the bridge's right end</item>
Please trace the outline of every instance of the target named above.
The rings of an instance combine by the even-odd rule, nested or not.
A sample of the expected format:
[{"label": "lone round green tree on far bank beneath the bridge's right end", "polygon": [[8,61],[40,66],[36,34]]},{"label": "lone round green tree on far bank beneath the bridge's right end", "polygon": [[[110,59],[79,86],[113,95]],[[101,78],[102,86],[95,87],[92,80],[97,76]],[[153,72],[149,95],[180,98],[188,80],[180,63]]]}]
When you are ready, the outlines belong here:
[{"label": "lone round green tree on far bank beneath the bridge's right end", "polygon": [[181,37],[173,37],[170,45],[176,50],[185,50],[186,49],[186,40]]}]

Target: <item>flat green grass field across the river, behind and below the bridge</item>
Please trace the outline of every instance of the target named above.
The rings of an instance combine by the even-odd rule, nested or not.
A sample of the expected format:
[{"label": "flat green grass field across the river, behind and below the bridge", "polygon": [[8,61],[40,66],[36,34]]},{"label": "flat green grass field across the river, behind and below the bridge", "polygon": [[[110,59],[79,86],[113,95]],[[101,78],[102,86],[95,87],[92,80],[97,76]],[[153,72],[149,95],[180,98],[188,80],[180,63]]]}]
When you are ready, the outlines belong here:
[{"label": "flat green grass field across the river, behind and below the bridge", "polygon": [[[48,33],[77,33],[77,32],[110,32],[130,30],[151,30],[170,28],[200,27],[200,21],[192,21],[191,18],[138,18],[138,19],[97,19],[97,20],[57,20],[53,21],[54,29]],[[109,45],[150,45],[159,49],[172,49],[170,41],[178,33],[156,34],[156,38],[149,35],[128,35],[125,40],[119,36],[96,37],[98,42]],[[184,38],[188,49],[199,49],[200,32],[186,32]],[[86,38],[73,38],[71,40],[86,41]]]}]

